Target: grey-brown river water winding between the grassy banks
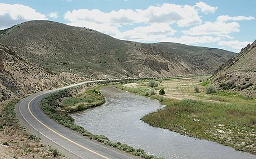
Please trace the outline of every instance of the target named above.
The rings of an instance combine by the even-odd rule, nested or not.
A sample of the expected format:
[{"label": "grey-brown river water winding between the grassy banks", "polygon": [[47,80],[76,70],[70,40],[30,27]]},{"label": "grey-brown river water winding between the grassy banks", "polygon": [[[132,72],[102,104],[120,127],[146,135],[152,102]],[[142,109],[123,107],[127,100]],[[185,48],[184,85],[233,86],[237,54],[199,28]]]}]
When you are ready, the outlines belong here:
[{"label": "grey-brown river water winding between the grassy banks", "polygon": [[256,158],[216,142],[179,135],[141,121],[142,116],[164,107],[157,100],[115,86],[100,90],[106,98],[104,105],[72,114],[77,125],[93,134],[105,135],[111,141],[143,148],[150,154],[165,158]]}]

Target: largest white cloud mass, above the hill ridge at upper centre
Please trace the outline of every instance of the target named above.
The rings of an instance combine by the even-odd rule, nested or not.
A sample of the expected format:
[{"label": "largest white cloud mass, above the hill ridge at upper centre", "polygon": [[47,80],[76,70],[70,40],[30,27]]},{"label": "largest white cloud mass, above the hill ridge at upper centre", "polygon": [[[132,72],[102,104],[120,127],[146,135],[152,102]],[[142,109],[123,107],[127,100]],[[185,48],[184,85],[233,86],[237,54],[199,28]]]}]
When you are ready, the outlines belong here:
[{"label": "largest white cloud mass, above the hill ridge at upper centre", "polygon": [[[99,32],[126,40],[154,41],[173,35],[176,31],[170,27],[198,25],[201,19],[194,6],[164,3],[146,9],[120,9],[119,11],[102,12],[99,9],[77,9],[67,11],[64,15],[68,25],[87,27]],[[127,25],[136,27],[125,32],[119,28]],[[146,24],[146,26],[145,26]],[[144,33],[145,35],[142,35]]]}]

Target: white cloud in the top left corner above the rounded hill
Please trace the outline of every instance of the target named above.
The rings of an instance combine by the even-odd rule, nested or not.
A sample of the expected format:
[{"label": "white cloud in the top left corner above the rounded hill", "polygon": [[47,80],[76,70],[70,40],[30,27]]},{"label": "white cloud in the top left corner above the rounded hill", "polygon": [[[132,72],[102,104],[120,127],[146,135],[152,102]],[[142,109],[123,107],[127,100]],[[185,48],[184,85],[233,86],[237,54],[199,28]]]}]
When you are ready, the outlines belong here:
[{"label": "white cloud in the top left corner above the rounded hill", "polygon": [[27,20],[46,19],[45,14],[38,13],[28,6],[0,3],[0,29],[9,28]]}]

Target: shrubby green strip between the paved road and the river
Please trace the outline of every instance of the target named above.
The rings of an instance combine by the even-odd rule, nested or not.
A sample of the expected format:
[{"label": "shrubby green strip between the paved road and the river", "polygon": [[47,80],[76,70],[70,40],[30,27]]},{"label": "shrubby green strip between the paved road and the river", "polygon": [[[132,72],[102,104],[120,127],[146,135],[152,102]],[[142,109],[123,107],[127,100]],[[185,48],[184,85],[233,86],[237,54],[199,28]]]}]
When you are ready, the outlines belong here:
[{"label": "shrubby green strip between the paved road and the river", "polygon": [[[83,107],[82,107],[84,110],[92,106],[95,106],[94,104],[96,103],[96,101],[101,101],[103,103],[103,100],[102,100],[102,95],[100,95],[99,93],[99,90],[95,88],[89,89],[81,94],[78,94],[75,98],[71,97],[71,93],[70,93],[73,89],[79,89],[79,87],[61,90],[43,98],[41,101],[41,107],[43,112],[49,115],[51,119],[58,121],[61,125],[66,126],[69,129],[76,131],[78,134],[88,137],[91,140],[99,141],[101,143],[104,143],[105,145],[117,148],[120,151],[124,151],[135,156],[141,156],[142,158],[149,158],[149,159],[161,158],[161,157],[155,157],[153,155],[148,155],[141,148],[136,149],[129,145],[126,145],[125,143],[112,142],[104,135],[93,135],[91,132],[85,130],[83,127],[75,125],[74,119],[72,119],[72,117],[68,114],[68,112],[73,112],[73,111],[70,111],[70,106],[77,105],[77,109],[72,109],[72,110],[80,111],[78,106],[81,103],[86,103],[86,105],[83,104]],[[88,102],[88,99],[90,99],[90,102]],[[63,104],[61,104],[60,102],[62,100],[63,100]],[[88,103],[92,105],[87,105]],[[97,103],[100,103],[100,102],[97,102]]]}]

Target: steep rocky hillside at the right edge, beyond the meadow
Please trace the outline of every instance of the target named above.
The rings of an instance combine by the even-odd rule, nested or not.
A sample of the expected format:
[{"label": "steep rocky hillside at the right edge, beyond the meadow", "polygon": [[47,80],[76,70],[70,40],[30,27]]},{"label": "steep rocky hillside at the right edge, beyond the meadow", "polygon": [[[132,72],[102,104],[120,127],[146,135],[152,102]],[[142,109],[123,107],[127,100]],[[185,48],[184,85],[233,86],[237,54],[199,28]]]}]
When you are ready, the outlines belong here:
[{"label": "steep rocky hillside at the right edge, beyond the meadow", "polygon": [[219,89],[256,98],[256,40],[216,70],[209,80]]}]

